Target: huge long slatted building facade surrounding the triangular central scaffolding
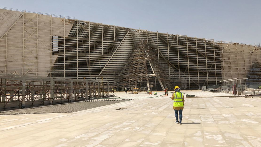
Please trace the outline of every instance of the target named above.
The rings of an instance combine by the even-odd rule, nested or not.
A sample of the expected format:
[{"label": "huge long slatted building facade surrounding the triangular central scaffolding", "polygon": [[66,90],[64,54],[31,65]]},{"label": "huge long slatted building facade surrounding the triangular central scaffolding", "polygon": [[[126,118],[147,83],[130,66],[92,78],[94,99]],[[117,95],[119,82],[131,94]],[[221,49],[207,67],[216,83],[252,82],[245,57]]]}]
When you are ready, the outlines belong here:
[{"label": "huge long slatted building facade surrounding the triangular central scaffolding", "polygon": [[[201,89],[218,81],[247,78],[261,48],[250,44],[173,35],[115,25],[82,21],[61,15],[0,9],[4,26],[0,30],[0,73],[75,78],[121,83],[123,68],[141,40],[153,51],[151,63],[162,68],[168,79],[162,84],[182,89]],[[0,15],[4,16],[4,15]],[[7,19],[8,18],[8,19]],[[124,75],[124,74],[123,74]],[[134,75],[126,75],[133,77]],[[166,77],[167,76],[167,77]],[[160,76],[159,76],[160,77]],[[132,86],[136,86],[133,80]],[[156,82],[155,82],[156,81]],[[155,85],[154,76],[138,83]],[[138,84],[139,85],[139,84]],[[154,88],[151,87],[150,88]],[[142,86],[148,87],[148,86]],[[167,86],[170,88],[169,86]]]}]

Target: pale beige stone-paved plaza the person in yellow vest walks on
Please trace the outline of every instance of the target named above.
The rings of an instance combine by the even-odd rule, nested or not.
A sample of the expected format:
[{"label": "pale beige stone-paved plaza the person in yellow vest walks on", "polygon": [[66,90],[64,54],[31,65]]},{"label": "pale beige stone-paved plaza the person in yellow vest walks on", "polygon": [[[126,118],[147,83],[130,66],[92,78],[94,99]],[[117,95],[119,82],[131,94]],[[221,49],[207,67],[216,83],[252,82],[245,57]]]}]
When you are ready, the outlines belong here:
[{"label": "pale beige stone-paved plaza the person in yellow vest walks on", "polygon": [[260,146],[261,98],[184,93],[217,97],[185,98],[183,125],[174,123],[169,97],[134,99],[73,113],[2,115],[1,146]]}]

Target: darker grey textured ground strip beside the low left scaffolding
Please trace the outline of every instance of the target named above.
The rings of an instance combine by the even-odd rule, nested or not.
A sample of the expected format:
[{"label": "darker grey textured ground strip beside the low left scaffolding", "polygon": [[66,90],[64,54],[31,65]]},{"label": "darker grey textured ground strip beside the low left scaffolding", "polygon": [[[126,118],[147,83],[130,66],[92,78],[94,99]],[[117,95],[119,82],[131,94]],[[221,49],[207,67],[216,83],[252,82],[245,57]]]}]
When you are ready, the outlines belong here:
[{"label": "darker grey textured ground strip beside the low left scaffolding", "polygon": [[[105,100],[105,99],[100,99]],[[40,114],[40,113],[67,113],[67,112],[77,112],[87,109],[92,109],[100,106],[120,103],[126,100],[112,100],[107,99],[109,101],[81,101],[75,103],[66,103],[66,104],[58,104],[58,105],[48,105],[48,106],[40,106],[34,108],[25,108],[18,110],[8,110],[8,111],[0,111],[0,115],[14,115],[14,114]]]}]

